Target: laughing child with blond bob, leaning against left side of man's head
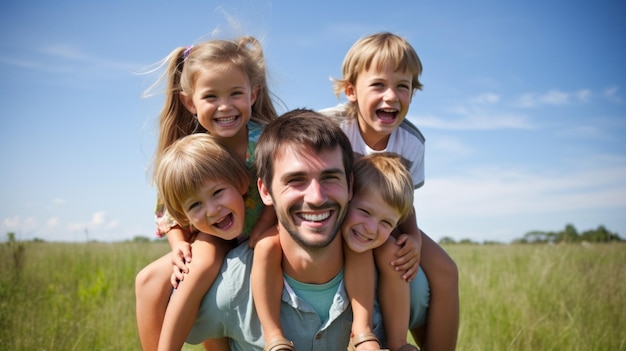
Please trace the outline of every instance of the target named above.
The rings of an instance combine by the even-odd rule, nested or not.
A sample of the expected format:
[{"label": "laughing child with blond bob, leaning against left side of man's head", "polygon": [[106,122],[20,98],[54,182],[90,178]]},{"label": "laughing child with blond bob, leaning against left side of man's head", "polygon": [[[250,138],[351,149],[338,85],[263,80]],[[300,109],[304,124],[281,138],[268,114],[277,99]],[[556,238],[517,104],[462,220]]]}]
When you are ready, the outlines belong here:
[{"label": "laughing child with blond bob, leaning against left side of man's head", "polygon": [[[172,218],[191,228],[189,242],[194,259],[189,272],[172,294],[165,313],[159,349],[181,349],[191,329],[200,299],[219,271],[216,250],[226,251],[230,241],[239,238],[245,220],[245,196],[250,184],[248,170],[239,157],[206,133],[188,135],[175,141],[157,159],[154,181]],[[219,238],[222,240],[215,240]],[[221,262],[219,262],[221,263]],[[186,306],[189,305],[189,306]],[[170,314],[185,311],[167,334]],[[167,343],[166,343],[167,342]]]}]

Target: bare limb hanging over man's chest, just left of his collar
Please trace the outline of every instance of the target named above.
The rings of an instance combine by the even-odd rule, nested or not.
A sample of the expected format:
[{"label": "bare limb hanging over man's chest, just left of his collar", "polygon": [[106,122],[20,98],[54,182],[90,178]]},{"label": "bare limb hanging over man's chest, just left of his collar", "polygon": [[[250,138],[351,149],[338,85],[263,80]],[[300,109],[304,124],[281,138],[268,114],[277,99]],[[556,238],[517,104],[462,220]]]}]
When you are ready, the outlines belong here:
[{"label": "bare limb hanging over man's chest, just left of his collar", "polygon": [[254,247],[250,283],[252,297],[263,328],[265,345],[284,339],[280,324],[280,305],[283,293],[283,250],[278,235],[262,237]]}]

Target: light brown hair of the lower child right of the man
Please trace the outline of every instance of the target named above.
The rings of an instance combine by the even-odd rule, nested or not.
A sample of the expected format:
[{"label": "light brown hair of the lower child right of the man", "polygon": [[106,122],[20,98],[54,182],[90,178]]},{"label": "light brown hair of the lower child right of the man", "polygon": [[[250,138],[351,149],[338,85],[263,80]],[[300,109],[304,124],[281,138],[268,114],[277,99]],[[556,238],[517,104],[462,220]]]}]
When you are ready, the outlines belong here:
[{"label": "light brown hair of the lower child right of the man", "polygon": [[398,154],[374,153],[358,158],[352,169],[354,196],[373,193],[396,209],[400,222],[413,210],[413,179]]}]

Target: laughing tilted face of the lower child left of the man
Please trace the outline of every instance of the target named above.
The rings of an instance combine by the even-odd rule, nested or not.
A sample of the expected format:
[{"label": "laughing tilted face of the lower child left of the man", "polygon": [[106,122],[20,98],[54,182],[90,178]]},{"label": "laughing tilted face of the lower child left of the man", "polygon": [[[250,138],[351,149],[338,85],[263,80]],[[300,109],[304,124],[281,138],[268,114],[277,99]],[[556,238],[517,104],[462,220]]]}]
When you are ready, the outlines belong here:
[{"label": "laughing tilted face of the lower child left of the man", "polygon": [[243,193],[230,182],[207,180],[183,203],[189,222],[199,231],[225,240],[235,239],[243,230]]}]

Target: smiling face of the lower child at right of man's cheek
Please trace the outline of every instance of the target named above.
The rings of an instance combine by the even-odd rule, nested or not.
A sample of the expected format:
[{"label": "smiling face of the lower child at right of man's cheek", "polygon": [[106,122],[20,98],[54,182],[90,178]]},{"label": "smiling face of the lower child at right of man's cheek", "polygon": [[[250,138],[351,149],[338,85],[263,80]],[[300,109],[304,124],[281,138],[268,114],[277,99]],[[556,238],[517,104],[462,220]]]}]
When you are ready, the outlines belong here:
[{"label": "smiling face of the lower child at right of man's cheek", "polygon": [[341,235],[354,252],[372,250],[387,241],[399,219],[398,210],[381,201],[376,192],[361,192],[350,201]]}]

